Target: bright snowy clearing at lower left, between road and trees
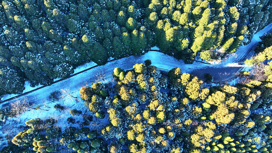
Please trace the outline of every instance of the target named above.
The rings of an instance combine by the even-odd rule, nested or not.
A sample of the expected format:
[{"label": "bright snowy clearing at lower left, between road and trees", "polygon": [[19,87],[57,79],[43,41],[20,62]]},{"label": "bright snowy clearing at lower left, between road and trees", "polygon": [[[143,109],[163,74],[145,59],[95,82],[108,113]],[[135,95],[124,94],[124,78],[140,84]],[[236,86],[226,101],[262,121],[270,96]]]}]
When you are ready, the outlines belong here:
[{"label": "bright snowy clearing at lower left, between road and trees", "polygon": [[[67,126],[73,126],[77,128],[84,127],[79,124],[83,121],[83,117],[81,115],[73,117],[69,113],[71,109],[76,109],[83,111],[84,115],[91,115],[90,111],[88,111],[88,107],[84,106],[84,101],[80,98],[79,89],[75,89],[75,91],[76,92],[68,90],[68,93],[70,93],[72,96],[78,97],[77,99],[66,95],[63,98],[61,97],[59,100],[55,100],[53,102],[49,100],[48,97],[42,95],[43,93],[40,93],[43,96],[42,101],[30,100],[30,103],[34,102],[35,104],[34,106],[32,106],[31,109],[22,113],[18,117],[9,117],[6,123],[3,126],[0,126],[0,136],[3,136],[3,138],[0,138],[0,146],[6,146],[8,144],[7,140],[5,139],[6,135],[9,135],[13,138],[16,134],[25,130],[21,127],[26,126],[25,122],[33,118],[40,118],[42,120],[54,118],[57,120],[54,125],[60,126],[62,132],[64,132]],[[57,111],[56,109],[54,109],[54,106],[56,104],[64,106],[64,110]],[[75,123],[68,123],[68,117],[74,118]],[[102,128],[103,126],[108,124],[108,116],[106,116],[104,119],[98,119],[93,116],[93,121],[90,124],[94,125],[95,122],[99,122],[99,127]],[[95,130],[95,126],[88,127],[90,128],[90,130]]]}]

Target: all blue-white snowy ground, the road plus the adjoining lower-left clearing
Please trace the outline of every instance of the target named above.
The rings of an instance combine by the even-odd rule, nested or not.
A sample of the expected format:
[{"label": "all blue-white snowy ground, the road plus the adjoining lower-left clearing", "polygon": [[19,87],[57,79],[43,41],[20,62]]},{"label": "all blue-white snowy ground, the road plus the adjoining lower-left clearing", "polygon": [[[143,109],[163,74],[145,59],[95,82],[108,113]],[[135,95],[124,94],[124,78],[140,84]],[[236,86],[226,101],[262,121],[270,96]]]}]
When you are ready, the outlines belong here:
[{"label": "all blue-white snowy ground, the road plus the adjoining lower-left clearing", "polygon": [[[108,62],[105,65],[94,67],[88,71],[82,72],[78,75],[75,75],[71,78],[65,79],[61,82],[55,83],[51,86],[46,86],[42,89],[31,92],[25,96],[18,97],[17,99],[13,99],[7,101],[5,103],[0,104],[0,107],[7,106],[9,103],[14,103],[16,100],[22,100],[27,98],[32,104],[34,104],[34,108],[39,106],[38,109],[30,109],[30,111],[23,113],[19,118],[9,118],[7,123],[3,126],[0,126],[0,135],[3,134],[4,138],[0,139],[0,146],[6,144],[5,136],[7,134],[14,135],[17,134],[20,130],[20,126],[26,126],[24,122],[32,118],[41,118],[46,119],[48,117],[54,117],[58,119],[58,125],[64,128],[66,125],[67,117],[70,116],[69,110],[78,109],[78,110],[87,110],[84,108],[84,103],[80,98],[79,90],[83,86],[90,86],[93,82],[96,82],[98,77],[97,74],[103,74],[105,79],[109,82],[112,81],[112,71],[115,67],[119,67],[122,69],[131,69],[136,63],[143,63],[145,60],[150,59],[152,61],[152,65],[157,66],[161,69],[170,70],[175,67],[180,67],[182,72],[193,73],[198,77],[203,77],[204,73],[212,73],[215,77],[215,80],[224,80],[229,79],[234,73],[239,70],[244,70],[249,67],[244,67],[241,62],[245,58],[250,58],[253,55],[253,50],[258,42],[260,41],[259,36],[262,36],[264,33],[271,31],[272,23],[267,25],[263,30],[254,35],[252,42],[248,45],[241,46],[237,52],[231,55],[228,59],[222,61],[217,65],[208,65],[200,62],[194,62],[193,64],[184,64],[182,60],[177,60],[168,55],[164,55],[163,53],[150,51],[141,57],[126,57],[116,61]],[[154,50],[158,50],[158,47],[152,47]],[[96,64],[91,62],[87,63],[83,66],[79,66],[75,69],[76,72],[80,72],[89,67],[95,66]],[[230,84],[234,85],[237,83],[237,79],[233,81],[229,81]],[[28,83],[25,85],[26,90],[24,92],[33,90],[35,88],[31,88]],[[54,91],[64,90],[67,93],[78,97],[77,101],[75,98],[71,98],[69,95],[66,95],[64,98],[61,98],[58,101],[52,102],[48,100],[50,94]],[[8,99],[10,97],[16,96],[5,95],[4,99]],[[56,104],[60,104],[65,106],[66,109],[64,111],[56,111],[54,106]],[[77,120],[82,120],[82,117],[76,117]],[[102,123],[107,123],[107,117],[105,120],[100,121]],[[73,126],[79,126],[78,124],[74,124]],[[64,129],[62,129],[64,130]]]}]

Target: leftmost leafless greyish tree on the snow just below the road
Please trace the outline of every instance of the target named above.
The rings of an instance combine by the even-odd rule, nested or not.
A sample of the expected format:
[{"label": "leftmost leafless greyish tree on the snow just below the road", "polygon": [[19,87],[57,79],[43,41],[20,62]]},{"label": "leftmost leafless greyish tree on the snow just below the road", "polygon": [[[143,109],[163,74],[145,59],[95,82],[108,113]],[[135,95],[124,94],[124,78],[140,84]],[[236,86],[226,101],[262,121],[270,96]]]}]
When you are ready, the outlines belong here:
[{"label": "leftmost leafless greyish tree on the snow just below the road", "polygon": [[22,100],[16,100],[14,103],[10,104],[11,113],[14,116],[19,116],[22,113],[33,109],[33,104],[29,103],[28,98],[23,98]]}]

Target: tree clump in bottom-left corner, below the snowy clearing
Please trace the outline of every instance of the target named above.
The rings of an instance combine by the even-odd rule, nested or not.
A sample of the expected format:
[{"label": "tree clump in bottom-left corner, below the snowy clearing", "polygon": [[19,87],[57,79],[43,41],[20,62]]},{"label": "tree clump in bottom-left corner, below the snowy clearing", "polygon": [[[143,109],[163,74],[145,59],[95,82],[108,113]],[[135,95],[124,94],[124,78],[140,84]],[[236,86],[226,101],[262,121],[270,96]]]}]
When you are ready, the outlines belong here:
[{"label": "tree clump in bottom-left corner, below the snowy clearing", "polygon": [[77,129],[69,126],[63,132],[54,119],[31,119],[26,122],[28,130],[18,133],[12,143],[18,147],[4,147],[1,152],[59,152],[68,149],[77,152],[106,152],[102,138],[88,127]]}]

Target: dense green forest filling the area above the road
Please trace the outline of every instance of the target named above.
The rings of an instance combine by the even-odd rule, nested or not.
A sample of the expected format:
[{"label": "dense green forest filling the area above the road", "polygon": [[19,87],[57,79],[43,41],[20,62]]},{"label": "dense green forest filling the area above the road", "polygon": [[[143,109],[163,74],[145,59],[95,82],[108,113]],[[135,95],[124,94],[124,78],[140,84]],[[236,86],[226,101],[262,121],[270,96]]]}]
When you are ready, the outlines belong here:
[{"label": "dense green forest filling the area above the road", "polygon": [[3,0],[0,95],[157,45],[185,63],[234,53],[272,20],[270,0]]}]

